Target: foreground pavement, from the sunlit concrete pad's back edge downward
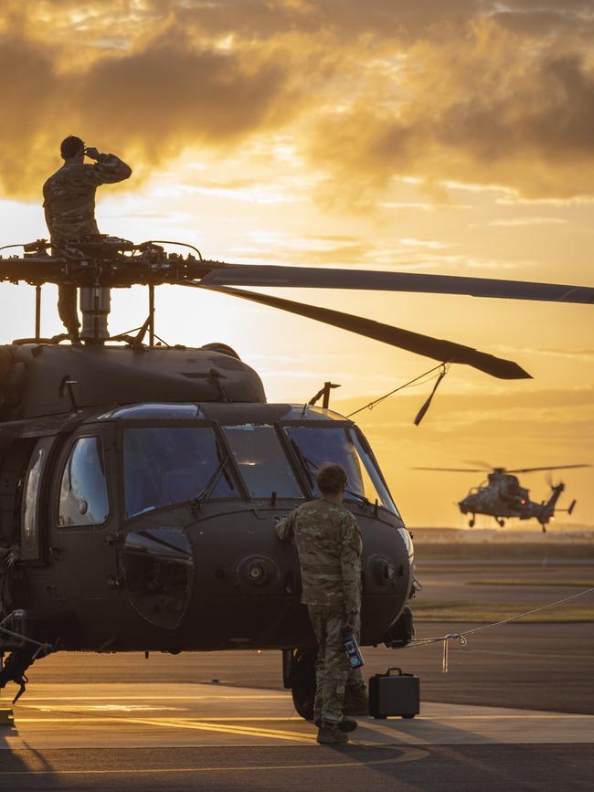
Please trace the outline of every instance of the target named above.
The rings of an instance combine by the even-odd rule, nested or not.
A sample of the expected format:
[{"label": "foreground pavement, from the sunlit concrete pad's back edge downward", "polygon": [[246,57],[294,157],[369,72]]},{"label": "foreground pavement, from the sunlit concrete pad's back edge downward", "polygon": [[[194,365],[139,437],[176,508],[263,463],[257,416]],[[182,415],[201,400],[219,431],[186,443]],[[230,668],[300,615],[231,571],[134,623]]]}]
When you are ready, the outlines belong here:
[{"label": "foreground pavement, from the sunlit concrete pad's back edge downward", "polygon": [[426,702],[338,749],[315,734],[287,692],[39,684],[0,732],[0,788],[586,789],[593,769],[592,715]]}]

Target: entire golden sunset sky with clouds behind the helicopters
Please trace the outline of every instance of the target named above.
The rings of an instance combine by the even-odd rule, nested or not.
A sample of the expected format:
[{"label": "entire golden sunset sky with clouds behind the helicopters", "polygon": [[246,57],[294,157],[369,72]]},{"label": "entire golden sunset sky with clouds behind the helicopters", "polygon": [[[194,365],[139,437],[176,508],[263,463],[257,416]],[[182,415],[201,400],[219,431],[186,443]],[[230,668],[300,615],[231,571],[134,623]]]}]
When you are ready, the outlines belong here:
[{"label": "entire golden sunset sky with clouds behind the helicopters", "polygon": [[[594,285],[594,0],[0,0],[0,78],[0,246],[48,236],[41,185],[77,134],[133,167],[98,190],[104,233],[245,264]],[[419,428],[427,382],[357,417],[410,525],[465,524],[453,502],[481,480],[411,467],[594,463],[594,307],[270,293],[533,375],[452,366]],[[32,334],[34,290],[0,299],[0,343]],[[230,344],[270,401],[332,379],[347,413],[434,365],[221,295],[156,301],[159,335]],[[45,287],[44,335],[54,303]],[[113,293],[112,333],[145,316],[143,290]],[[578,506],[559,522],[593,524],[594,469],[563,480]],[[547,497],[542,473],[525,483]]]}]

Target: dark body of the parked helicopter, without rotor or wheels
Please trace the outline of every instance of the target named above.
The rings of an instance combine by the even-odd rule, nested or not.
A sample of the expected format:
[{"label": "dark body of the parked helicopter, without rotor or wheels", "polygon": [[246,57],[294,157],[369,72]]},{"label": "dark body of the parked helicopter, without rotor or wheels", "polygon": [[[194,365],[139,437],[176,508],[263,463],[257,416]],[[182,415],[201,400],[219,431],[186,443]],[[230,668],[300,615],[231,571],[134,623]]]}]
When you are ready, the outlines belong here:
[{"label": "dark body of the parked helicopter, without rotor or wheels", "polygon": [[[352,421],[263,403],[255,372],[212,350],[11,354],[27,369],[20,407],[0,423],[2,617],[13,632],[95,651],[315,646],[297,554],[274,523],[316,497],[316,468],[338,461],[363,535],[362,642],[386,639],[410,595],[412,544]],[[154,401],[113,398],[140,377],[146,393],[151,371]],[[248,400],[231,401],[242,377]]]}]

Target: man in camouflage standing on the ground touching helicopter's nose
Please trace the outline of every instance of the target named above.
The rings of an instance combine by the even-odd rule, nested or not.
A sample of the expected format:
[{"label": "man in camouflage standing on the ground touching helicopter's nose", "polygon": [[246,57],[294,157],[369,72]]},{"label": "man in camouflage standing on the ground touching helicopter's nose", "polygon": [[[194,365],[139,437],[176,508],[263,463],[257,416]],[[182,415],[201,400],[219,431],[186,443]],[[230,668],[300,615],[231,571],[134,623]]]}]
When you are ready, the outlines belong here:
[{"label": "man in camouflage standing on the ground touching helicopter's nose", "polygon": [[[344,718],[349,675],[342,633],[357,631],[361,610],[361,533],[343,506],[345,469],[325,465],[317,477],[322,498],[303,503],[276,526],[282,540],[294,536],[302,573],[302,603],[318,641],[314,721],[318,742],[345,743],[356,722]],[[360,675],[359,675],[360,676]]]}]

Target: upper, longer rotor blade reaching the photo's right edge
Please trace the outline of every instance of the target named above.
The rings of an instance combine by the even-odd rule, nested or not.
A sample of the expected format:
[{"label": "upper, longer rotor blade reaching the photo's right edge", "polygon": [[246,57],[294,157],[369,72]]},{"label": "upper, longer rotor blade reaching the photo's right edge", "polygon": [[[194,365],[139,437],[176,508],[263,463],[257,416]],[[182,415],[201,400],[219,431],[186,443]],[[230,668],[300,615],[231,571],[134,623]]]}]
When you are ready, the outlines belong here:
[{"label": "upper, longer rotor blade reaching the photo's right edge", "polygon": [[313,269],[222,262],[211,269],[201,282],[205,286],[292,286],[303,289],[419,291],[435,294],[468,294],[472,297],[499,297],[509,300],[594,304],[594,287],[590,286],[465,278],[459,275],[382,272],[371,269]]}]

